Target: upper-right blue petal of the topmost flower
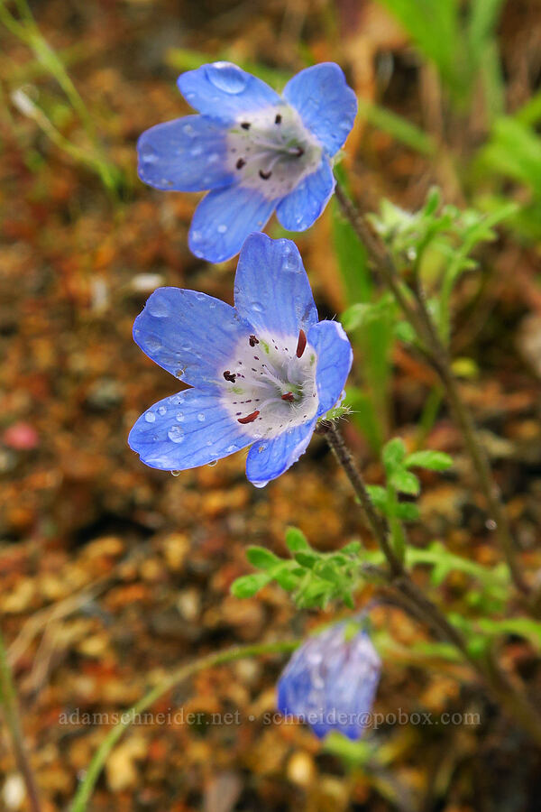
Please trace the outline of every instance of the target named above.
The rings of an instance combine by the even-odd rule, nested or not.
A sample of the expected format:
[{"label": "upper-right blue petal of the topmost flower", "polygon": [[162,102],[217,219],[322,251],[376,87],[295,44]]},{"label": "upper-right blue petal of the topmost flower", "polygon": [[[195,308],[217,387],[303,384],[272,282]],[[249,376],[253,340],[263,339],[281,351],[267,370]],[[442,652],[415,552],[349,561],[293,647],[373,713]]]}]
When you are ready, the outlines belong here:
[{"label": "upper-right blue petal of the topmost flower", "polygon": [[307,128],[333,156],[350,134],[357,115],[357,98],[335,62],[301,70],[289,80],[283,97],[297,107]]}]

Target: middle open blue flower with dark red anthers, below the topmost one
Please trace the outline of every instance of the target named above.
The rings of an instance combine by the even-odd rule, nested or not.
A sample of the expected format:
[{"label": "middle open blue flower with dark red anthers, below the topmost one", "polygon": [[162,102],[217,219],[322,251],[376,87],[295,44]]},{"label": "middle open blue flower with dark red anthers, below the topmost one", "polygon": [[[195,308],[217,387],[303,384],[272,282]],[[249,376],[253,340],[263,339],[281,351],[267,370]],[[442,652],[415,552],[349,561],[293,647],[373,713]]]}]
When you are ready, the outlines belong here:
[{"label": "middle open blue flower with dark red anthers, below the topmost one", "polygon": [[335,321],[318,321],[297,246],[252,234],[234,282],[234,308],[205,293],[158,288],[133,337],[188,389],[155,403],[128,442],[162,470],[204,466],[252,446],[257,487],[307,448],[316,420],[335,406],[352,348]]}]

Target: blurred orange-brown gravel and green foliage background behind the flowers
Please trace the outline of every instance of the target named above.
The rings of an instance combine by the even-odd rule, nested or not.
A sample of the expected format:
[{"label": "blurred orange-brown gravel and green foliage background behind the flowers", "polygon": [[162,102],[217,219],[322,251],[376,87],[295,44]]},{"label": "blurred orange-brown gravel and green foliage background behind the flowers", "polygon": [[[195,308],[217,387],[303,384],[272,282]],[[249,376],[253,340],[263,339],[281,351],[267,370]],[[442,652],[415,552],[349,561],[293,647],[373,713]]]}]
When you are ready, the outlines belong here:
[{"label": "blurred orange-brown gravel and green foliage background behind the flowers", "polygon": [[[305,590],[298,613],[264,567],[257,596],[230,595],[253,577],[248,545],[252,564],[261,548],[300,553],[324,581],[347,542],[378,563],[321,440],[262,492],[245,482],[243,455],[173,478],[126,447],[133,420],[175,388],[133,345],[133,318],[160,284],[231,300],[235,266],[188,253],[195,196],[142,186],[138,135],[188,113],[175,79],[206,61],[233,60],[276,88],[316,61],[342,65],[360,110],[337,171],[422,280],[521,555],[539,567],[539,42],[536,0],[0,0],[0,613],[47,810],[66,807],[105,734],[61,725],[61,713],[122,710],[180,661],[333,617],[339,590],[325,601]],[[284,234],[274,221],[270,233]],[[454,457],[445,475],[419,473],[420,494],[402,475],[408,563],[472,645],[497,639],[538,697],[538,630],[511,616],[432,371],[334,203],[295,239],[320,314],[352,337],[344,431],[375,498],[390,494],[391,436],[408,454]],[[284,540],[289,524],[304,558]],[[360,579],[345,599],[362,606],[371,586]],[[538,754],[467,669],[391,603],[373,605],[371,623],[385,659],[376,710],[429,712],[433,724],[384,723],[363,743],[322,747],[301,726],[264,724],[280,660],[239,662],[157,709],[238,709],[242,726],[135,727],[92,808],[537,809]],[[454,711],[479,723],[444,724]],[[1,804],[23,808],[5,740],[0,773]]]}]

